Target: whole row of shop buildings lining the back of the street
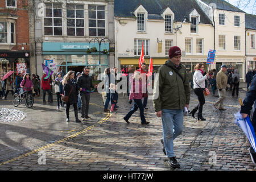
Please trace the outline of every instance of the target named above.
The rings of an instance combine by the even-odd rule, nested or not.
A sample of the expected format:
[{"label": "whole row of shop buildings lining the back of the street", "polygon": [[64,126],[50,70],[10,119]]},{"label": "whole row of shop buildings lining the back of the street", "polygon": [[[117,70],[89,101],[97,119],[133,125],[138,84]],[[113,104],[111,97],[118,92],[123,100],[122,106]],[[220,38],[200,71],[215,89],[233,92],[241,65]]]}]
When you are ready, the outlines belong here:
[{"label": "whole row of shop buildings lining the back of the street", "polygon": [[171,46],[181,48],[188,69],[206,63],[215,49],[210,69],[226,64],[244,80],[247,69],[256,68],[255,35],[256,16],[223,0],[4,0],[0,74],[26,69],[42,76],[42,63],[63,75],[85,66],[96,77],[107,67],[126,72],[138,68],[143,43],[154,72]]}]

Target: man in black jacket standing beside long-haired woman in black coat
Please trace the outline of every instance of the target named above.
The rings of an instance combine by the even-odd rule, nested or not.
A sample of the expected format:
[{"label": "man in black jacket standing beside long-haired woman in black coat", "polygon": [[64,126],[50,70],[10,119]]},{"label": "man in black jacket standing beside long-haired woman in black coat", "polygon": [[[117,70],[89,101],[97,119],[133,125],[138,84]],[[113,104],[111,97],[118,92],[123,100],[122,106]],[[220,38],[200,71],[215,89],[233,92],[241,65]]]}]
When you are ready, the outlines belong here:
[{"label": "man in black jacket standing beside long-haired woman in black coat", "polygon": [[90,102],[90,92],[91,89],[97,88],[97,85],[93,86],[92,77],[89,76],[90,69],[88,67],[84,68],[82,76],[77,79],[77,86],[80,90],[80,97],[82,101],[81,114],[82,120],[89,119],[89,102]]}]

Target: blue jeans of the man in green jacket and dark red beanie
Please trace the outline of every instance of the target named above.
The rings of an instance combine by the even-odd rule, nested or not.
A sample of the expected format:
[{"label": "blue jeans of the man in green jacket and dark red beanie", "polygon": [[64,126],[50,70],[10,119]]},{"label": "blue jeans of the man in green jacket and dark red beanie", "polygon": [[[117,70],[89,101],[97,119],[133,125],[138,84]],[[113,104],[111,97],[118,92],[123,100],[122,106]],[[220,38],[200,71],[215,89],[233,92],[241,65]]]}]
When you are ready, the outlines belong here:
[{"label": "blue jeans of the man in green jacket and dark red beanie", "polygon": [[183,110],[182,109],[163,109],[163,141],[168,158],[174,157],[174,139],[183,131]]}]

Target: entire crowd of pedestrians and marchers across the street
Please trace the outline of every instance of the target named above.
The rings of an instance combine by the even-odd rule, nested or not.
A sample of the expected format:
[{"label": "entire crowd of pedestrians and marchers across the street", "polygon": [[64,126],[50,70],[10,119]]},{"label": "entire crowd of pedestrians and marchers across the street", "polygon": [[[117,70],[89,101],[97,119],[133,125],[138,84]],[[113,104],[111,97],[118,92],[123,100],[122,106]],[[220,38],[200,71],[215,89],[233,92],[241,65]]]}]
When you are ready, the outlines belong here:
[{"label": "entire crowd of pedestrians and marchers across the street", "polygon": [[[193,118],[197,113],[197,120],[206,121],[203,117],[203,106],[205,104],[205,96],[209,95],[208,86],[212,88],[212,94],[218,93],[218,100],[213,104],[218,110],[226,110],[224,107],[224,100],[226,98],[226,91],[232,90],[232,96],[236,93],[238,97],[238,88],[240,84],[240,76],[238,69],[228,68],[226,65],[221,65],[219,72],[216,69],[206,72],[205,64],[198,63],[195,66],[195,71],[189,70],[180,63],[181,50],[177,46],[173,46],[169,50],[169,59],[165,64],[158,68],[157,77],[155,77],[156,86],[154,86],[152,104],[154,106],[156,117],[162,119],[163,138],[160,142],[163,144],[163,152],[168,158],[168,163],[173,168],[179,168],[180,164],[176,160],[174,154],[174,139],[177,138],[183,131],[183,117],[188,111]],[[42,81],[39,76],[30,75],[26,73],[23,78],[20,73],[15,79],[16,90],[27,89],[27,91],[34,96],[40,95],[40,85],[43,90],[43,103],[46,104],[46,93],[48,93],[48,102],[52,102],[51,84],[54,86],[54,92],[57,97],[57,109],[65,107],[66,121],[70,121],[69,109],[73,106],[76,122],[81,122],[78,113],[81,112],[82,121],[89,119],[89,103],[90,93],[98,88],[98,85],[93,85],[92,77],[89,76],[90,69],[85,67],[83,71],[77,72],[69,71],[64,77],[61,77],[61,72],[56,74],[54,81],[43,75]],[[241,107],[243,117],[250,115],[250,111],[255,103],[256,97],[256,69],[246,74],[247,89],[246,98]],[[133,106],[128,113],[123,117],[123,120],[129,124],[131,116],[139,109],[142,125],[149,125],[150,122],[144,115],[144,110],[148,109],[148,71],[146,64],[141,63],[141,68],[134,70],[129,69],[127,75],[127,97],[128,103]],[[2,77],[0,77],[2,80]],[[120,80],[121,81],[121,80]],[[0,82],[0,96],[6,99],[7,94],[13,92],[13,80],[11,77],[7,78],[5,82]],[[230,85],[228,88],[227,85]],[[5,93],[6,90],[6,93]],[[191,90],[195,92],[199,103],[189,111],[189,101]],[[117,68],[106,68],[104,71],[104,92],[102,92],[104,112],[114,114],[118,110],[118,80]],[[254,104],[255,107],[255,104]],[[254,108],[255,110],[255,108]],[[255,111],[252,117],[253,126],[256,126]],[[256,127],[255,127],[256,128]],[[256,154],[250,148],[249,150],[252,159]],[[256,161],[256,160],[255,160]]]}]

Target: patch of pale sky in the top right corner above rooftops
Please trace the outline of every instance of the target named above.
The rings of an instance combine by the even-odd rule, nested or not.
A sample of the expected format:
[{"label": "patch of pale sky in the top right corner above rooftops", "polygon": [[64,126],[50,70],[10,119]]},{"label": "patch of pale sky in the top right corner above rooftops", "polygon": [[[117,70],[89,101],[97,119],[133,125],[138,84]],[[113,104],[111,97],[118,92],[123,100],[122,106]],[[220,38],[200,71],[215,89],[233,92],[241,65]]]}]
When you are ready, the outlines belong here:
[{"label": "patch of pale sky in the top right corner above rooftops", "polygon": [[226,0],[230,4],[238,7],[240,10],[249,14],[256,15],[256,1],[255,0]]}]

